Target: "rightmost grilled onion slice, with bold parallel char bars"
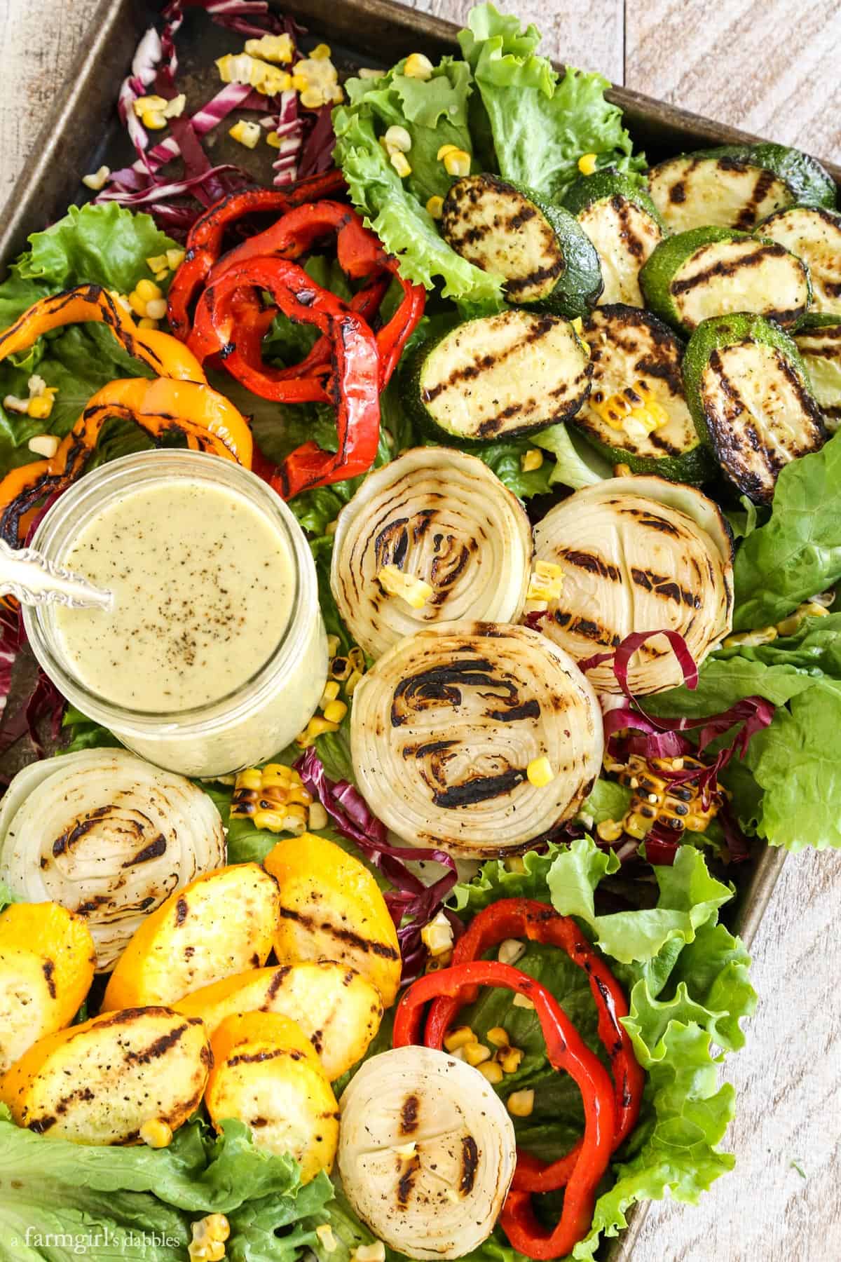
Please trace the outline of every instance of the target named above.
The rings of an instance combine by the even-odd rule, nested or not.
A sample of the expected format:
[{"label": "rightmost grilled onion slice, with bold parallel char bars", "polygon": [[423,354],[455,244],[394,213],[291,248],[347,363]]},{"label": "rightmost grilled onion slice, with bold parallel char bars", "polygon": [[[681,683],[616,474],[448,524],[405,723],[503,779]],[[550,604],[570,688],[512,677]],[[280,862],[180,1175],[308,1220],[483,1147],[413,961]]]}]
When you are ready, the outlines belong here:
[{"label": "rightmost grilled onion slice, with bold parallel char bars", "polygon": [[[632,631],[678,631],[696,665],[729,632],[733,541],[720,510],[695,487],[658,477],[609,478],[576,491],[535,528],[535,555],[564,569],[560,599],[541,630],[581,661],[615,649]],[[664,636],[642,646],[630,690],[682,681]],[[610,663],[588,679],[618,693]]]}]

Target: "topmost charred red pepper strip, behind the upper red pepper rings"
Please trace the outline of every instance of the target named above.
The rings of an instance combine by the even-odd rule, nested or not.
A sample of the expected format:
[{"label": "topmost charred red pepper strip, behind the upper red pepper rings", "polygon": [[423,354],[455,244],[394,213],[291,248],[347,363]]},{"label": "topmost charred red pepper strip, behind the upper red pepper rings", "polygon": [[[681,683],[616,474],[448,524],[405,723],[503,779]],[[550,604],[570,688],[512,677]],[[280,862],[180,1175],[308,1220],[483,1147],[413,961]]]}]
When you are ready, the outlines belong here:
[{"label": "topmost charred red pepper strip, behind the upper red pepper rings", "polygon": [[344,177],[340,170],[334,169],[300,179],[282,192],[275,188],[248,188],[245,192],[229,193],[214,202],[190,228],[184,261],[169,289],[166,318],[175,337],[182,342],[189,337],[190,307],[222,254],[222,241],[228,225],[247,215],[272,211],[276,215],[285,215],[296,206],[330,197],[343,188]]}]

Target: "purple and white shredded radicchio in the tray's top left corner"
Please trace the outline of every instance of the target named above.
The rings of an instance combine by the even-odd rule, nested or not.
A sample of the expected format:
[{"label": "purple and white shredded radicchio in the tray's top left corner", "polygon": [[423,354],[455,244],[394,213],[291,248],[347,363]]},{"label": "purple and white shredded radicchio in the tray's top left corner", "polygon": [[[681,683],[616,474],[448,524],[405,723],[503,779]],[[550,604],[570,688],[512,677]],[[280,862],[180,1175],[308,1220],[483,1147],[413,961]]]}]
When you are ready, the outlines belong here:
[{"label": "purple and white shredded radicchio in the tray's top left corner", "polygon": [[[301,114],[293,91],[266,97],[248,85],[226,83],[192,116],[171,119],[170,135],[150,146],[149,134],[135,114],[134,102],[153,91],[165,100],[178,95],[175,35],[185,9],[203,9],[217,25],[240,35],[285,32],[293,39],[295,59],[300,56],[296,37],[303,32],[291,18],[271,13],[266,0],[170,0],[163,10],[163,30],[159,33],[153,27],[140,40],[131,73],[124,81],[117,100],[120,117],[137,156],[130,167],[111,174],[96,202],[144,208],[160,228],[182,240],[203,207],[253,183],[240,167],[212,165],[202,146],[202,136],[233,110],[271,111],[264,121],[280,136],[274,163],[274,183],[277,186],[294,183],[299,174],[327,170],[334,144],[329,107]],[[183,163],[182,174],[161,175],[161,168],[177,158]]]}]

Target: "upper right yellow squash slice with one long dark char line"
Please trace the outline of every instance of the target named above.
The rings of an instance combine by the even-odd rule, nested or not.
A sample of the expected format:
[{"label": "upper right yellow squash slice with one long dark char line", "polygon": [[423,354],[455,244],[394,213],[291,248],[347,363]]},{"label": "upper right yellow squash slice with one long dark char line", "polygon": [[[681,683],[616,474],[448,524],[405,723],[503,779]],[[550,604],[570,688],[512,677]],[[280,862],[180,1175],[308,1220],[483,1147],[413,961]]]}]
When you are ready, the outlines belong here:
[{"label": "upper right yellow squash slice with one long dark char line", "polygon": [[349,964],[391,1007],[400,984],[397,930],[368,870],[335,842],[290,837],[265,858],[280,886],[275,954],[281,964],[334,959]]}]

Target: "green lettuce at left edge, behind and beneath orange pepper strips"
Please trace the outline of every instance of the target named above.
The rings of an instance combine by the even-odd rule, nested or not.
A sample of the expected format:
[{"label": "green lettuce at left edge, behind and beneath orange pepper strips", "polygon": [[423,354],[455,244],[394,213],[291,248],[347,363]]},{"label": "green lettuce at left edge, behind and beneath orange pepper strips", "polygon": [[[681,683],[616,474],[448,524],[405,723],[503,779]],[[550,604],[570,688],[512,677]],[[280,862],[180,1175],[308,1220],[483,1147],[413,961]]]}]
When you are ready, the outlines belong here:
[{"label": "green lettuce at left edge, behind and beneath orange pepper strips", "polygon": [[[38,299],[84,281],[127,293],[151,275],[146,259],[174,245],[148,215],[134,215],[116,203],[72,206],[58,223],[29,237],[29,250],[0,284],[0,328],[8,328]],[[58,389],[55,403],[45,420],[0,404],[0,473],[34,459],[26,444],[37,434],[67,434],[102,386],[117,377],[151,375],[102,324],[77,324],[50,333],[14,362],[4,361],[0,400],[6,395],[25,399],[33,372]],[[126,422],[112,422],[102,438],[102,452],[110,452],[110,458],[148,445],[149,440]]]}]

